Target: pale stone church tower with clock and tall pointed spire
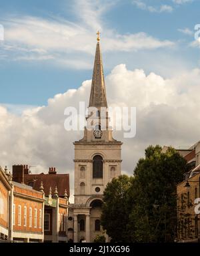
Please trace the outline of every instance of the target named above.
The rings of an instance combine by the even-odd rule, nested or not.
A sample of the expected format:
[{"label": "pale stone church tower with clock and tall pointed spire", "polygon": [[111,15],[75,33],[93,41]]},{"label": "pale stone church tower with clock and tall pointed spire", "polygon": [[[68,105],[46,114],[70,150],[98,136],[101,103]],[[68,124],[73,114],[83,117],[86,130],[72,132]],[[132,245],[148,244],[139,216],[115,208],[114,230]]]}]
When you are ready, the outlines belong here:
[{"label": "pale stone church tower with clock and tall pointed spire", "polygon": [[[89,98],[93,128],[85,127],[84,136],[75,146],[75,203],[71,206],[73,241],[93,242],[103,230],[100,226],[103,190],[112,178],[121,174],[121,142],[112,136],[107,112],[107,96],[99,32]],[[102,111],[103,109],[103,111]],[[87,116],[87,125],[91,113]]]}]

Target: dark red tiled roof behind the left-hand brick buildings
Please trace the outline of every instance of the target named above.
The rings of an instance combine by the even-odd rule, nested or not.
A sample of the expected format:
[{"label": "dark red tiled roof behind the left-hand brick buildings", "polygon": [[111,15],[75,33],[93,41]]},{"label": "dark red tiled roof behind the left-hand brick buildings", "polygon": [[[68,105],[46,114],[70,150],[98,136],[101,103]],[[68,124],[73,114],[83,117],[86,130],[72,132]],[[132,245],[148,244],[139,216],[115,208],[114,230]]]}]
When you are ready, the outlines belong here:
[{"label": "dark red tiled roof behind the left-hand brick buildings", "polygon": [[67,190],[67,195],[69,195],[69,174],[41,173],[41,174],[25,174],[24,175],[25,184],[29,184],[29,182],[33,182],[33,189],[35,190],[39,190],[39,187],[41,186],[41,181],[43,182],[45,196],[49,195],[50,187],[53,195],[55,186],[57,186],[59,197],[64,196],[65,189]]}]

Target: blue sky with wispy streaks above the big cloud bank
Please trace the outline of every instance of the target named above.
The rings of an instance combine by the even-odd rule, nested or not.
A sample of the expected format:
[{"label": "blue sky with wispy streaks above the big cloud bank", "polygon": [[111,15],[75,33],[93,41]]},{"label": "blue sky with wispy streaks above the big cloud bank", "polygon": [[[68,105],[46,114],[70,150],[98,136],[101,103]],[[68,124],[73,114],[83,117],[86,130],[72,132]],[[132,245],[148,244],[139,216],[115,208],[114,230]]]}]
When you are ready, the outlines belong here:
[{"label": "blue sky with wispy streaks above the big cloud bank", "polygon": [[120,63],[169,78],[199,68],[199,0],[0,0],[0,103],[42,106],[91,79],[97,29],[105,74]]}]

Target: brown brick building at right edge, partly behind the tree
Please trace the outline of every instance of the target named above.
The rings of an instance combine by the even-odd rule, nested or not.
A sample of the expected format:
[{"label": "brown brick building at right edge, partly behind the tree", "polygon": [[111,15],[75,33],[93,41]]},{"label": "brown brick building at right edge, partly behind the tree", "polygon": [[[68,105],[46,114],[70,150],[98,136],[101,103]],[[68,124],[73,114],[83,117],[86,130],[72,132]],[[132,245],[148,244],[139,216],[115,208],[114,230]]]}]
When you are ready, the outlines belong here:
[{"label": "brown brick building at right edge, partly behind the tree", "polygon": [[200,199],[200,142],[185,150],[178,150],[187,160],[189,172],[177,184],[177,217],[179,242],[200,242],[200,216],[195,211]]}]

